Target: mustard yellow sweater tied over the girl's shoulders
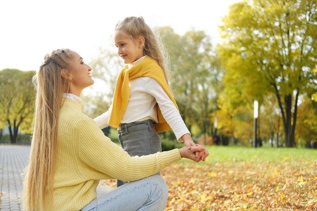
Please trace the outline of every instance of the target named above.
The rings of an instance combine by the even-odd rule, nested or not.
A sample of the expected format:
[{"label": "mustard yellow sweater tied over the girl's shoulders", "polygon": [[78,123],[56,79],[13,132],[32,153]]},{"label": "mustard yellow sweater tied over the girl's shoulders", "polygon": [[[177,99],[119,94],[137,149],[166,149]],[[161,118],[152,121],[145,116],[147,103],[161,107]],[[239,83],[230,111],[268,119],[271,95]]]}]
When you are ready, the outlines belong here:
[{"label": "mustard yellow sweater tied over the girl's shoulders", "polygon": [[[129,80],[138,77],[151,77],[159,82],[178,109],[162,68],[155,60],[146,56],[141,62],[133,65],[130,69],[128,68],[128,65],[125,66],[118,74],[113,95],[112,110],[108,120],[108,124],[114,128],[119,127],[122,116],[128,105],[130,98]],[[171,130],[170,125],[166,122],[162,115],[159,105],[157,105],[157,117],[159,119],[159,123],[155,124],[155,130],[157,132]]]}]

